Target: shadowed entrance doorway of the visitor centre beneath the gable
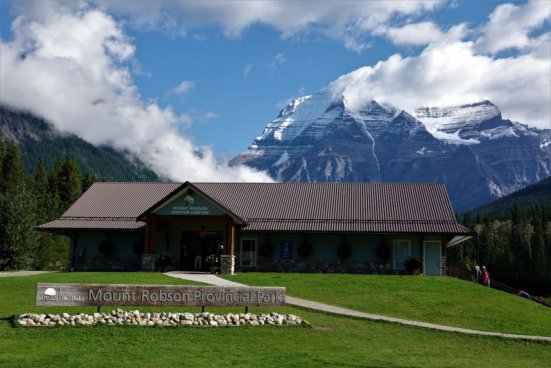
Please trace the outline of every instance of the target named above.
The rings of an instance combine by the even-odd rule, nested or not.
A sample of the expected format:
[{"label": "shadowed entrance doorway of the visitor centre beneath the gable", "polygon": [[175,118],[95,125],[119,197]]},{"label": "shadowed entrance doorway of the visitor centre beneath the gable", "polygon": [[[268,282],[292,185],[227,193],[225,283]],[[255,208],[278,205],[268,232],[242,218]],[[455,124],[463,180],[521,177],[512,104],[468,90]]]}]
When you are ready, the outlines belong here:
[{"label": "shadowed entrance doorway of the visitor centre beneath the gable", "polygon": [[214,254],[220,257],[220,246],[224,234],[209,231],[202,227],[198,231],[185,230],[180,233],[180,270],[208,271],[207,257]]}]

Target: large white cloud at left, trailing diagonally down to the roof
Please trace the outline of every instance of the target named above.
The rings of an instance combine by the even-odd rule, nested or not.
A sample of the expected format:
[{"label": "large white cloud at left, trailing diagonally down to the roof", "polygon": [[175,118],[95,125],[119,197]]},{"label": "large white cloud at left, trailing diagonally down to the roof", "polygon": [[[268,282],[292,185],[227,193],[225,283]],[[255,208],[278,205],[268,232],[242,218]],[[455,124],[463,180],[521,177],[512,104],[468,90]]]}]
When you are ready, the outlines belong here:
[{"label": "large white cloud at left, trailing diagonally down to the roof", "polygon": [[191,116],[141,98],[127,66],[135,48],[113,17],[86,6],[30,5],[36,7],[12,24],[13,41],[0,43],[0,102],[94,144],[128,150],[172,180],[270,180],[217,162],[208,148],[198,157],[195,144],[178,132]]}]

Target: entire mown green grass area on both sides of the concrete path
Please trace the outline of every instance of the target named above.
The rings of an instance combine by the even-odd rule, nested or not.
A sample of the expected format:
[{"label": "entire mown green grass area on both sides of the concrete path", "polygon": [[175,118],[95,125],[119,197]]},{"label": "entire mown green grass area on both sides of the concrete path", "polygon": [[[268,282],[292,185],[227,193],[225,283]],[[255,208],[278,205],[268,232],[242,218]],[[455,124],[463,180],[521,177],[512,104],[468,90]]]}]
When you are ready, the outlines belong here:
[{"label": "entire mown green grass area on both sides of the concrete path", "polygon": [[[406,309],[425,315],[478,319],[483,328],[508,331],[520,323],[523,331],[549,331],[550,314],[535,303],[507,294],[499,295],[477,285],[446,281],[440,277],[373,277],[248,273],[262,277],[262,285],[287,286],[288,294],[303,295],[304,286],[331,296],[331,304],[343,297],[390,306],[390,312]],[[275,277],[281,277],[276,279]],[[325,277],[324,277],[325,276]],[[297,279],[301,284],[294,282]],[[369,278],[371,279],[371,278]],[[235,281],[246,281],[240,278]],[[252,281],[252,280],[251,280]],[[379,282],[381,281],[381,282]],[[453,282],[456,281],[456,282]],[[146,326],[60,326],[13,327],[20,313],[94,313],[96,307],[37,307],[37,282],[84,284],[183,285],[158,273],[53,273],[29,277],[0,278],[0,366],[8,367],[484,367],[540,368],[549,361],[550,344],[478,337],[381,323],[320,313],[293,306],[252,307],[252,313],[292,313],[306,319],[312,328],[293,326],[237,327],[146,327]],[[320,284],[321,282],[321,284]],[[412,285],[413,283],[413,285]],[[401,285],[399,285],[401,284]],[[413,287],[412,287],[413,286]],[[402,292],[405,296],[402,296]],[[451,294],[448,296],[448,293]],[[515,298],[515,299],[513,299]],[[518,299],[518,300],[517,300]],[[531,304],[530,304],[531,303]],[[348,303],[347,303],[348,304]],[[532,305],[533,304],[533,305]],[[540,307],[540,308],[538,308]],[[102,307],[101,312],[113,308]],[[136,307],[123,307],[125,310]],[[140,312],[199,313],[198,307],[140,307]],[[418,311],[418,312],[416,312]],[[207,308],[207,312],[243,312],[241,307]],[[503,313],[505,312],[505,313]],[[386,313],[385,314],[390,314]],[[458,322],[450,319],[451,322]],[[514,328],[516,330],[516,328]],[[153,349],[144,349],[152,345]],[[246,343],[244,343],[246,341]],[[32,342],[32,343],[30,343]],[[129,343],[131,342],[131,343]],[[222,343],[221,343],[222,342]],[[124,347],[124,351],[120,348]],[[185,347],[178,348],[175,347]],[[208,347],[208,348],[206,348]],[[62,363],[60,364],[60,357]]]}]

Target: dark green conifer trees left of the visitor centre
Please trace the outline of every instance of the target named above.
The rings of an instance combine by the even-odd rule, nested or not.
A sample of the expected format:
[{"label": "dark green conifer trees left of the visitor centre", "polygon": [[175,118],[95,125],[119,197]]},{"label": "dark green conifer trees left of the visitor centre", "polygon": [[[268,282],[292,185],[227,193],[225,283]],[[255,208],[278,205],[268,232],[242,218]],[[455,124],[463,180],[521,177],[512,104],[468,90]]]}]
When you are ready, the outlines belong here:
[{"label": "dark green conifer trees left of the visitor centre", "polygon": [[36,226],[57,219],[96,180],[73,156],[28,175],[15,142],[0,140],[0,270],[63,270],[69,240]]}]

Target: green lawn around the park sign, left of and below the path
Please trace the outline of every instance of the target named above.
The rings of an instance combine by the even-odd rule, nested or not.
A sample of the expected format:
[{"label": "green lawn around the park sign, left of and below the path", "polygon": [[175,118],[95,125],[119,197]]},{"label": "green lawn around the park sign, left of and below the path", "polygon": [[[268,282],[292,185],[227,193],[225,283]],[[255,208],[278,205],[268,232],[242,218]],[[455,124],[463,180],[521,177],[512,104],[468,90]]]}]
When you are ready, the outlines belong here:
[{"label": "green lawn around the park sign, left of and below the path", "polygon": [[312,328],[12,327],[8,319],[13,314],[47,310],[34,306],[36,282],[191,284],[145,273],[0,278],[0,367],[542,367],[551,359],[551,344],[465,336],[292,307],[276,311],[300,315]]}]

